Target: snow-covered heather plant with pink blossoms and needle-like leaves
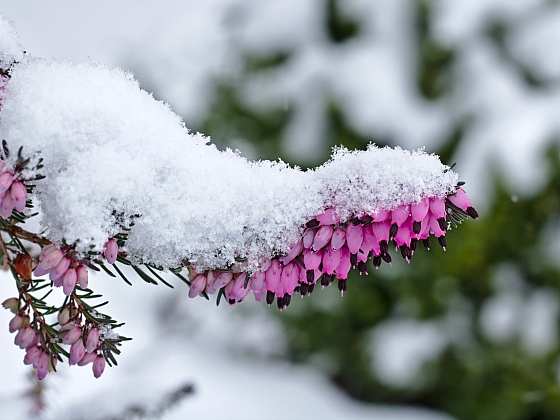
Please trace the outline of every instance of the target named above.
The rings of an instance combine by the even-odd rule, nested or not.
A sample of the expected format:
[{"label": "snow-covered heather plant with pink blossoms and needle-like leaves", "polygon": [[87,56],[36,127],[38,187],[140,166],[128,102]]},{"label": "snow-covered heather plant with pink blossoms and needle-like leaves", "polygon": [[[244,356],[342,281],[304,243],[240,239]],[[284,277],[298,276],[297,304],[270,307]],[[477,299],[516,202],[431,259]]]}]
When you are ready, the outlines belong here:
[{"label": "snow-covered heather plant with pink blossoms and needle-like leaves", "polygon": [[[283,311],[319,284],[351,293],[350,270],[391,265],[393,247],[409,263],[430,238],[445,251],[447,230],[478,217],[424,150],[336,147],[306,171],[251,162],[189,132],[130,74],[28,57],[4,20],[0,34],[0,255],[16,291],[3,306],[41,380],[65,359],[98,378],[130,340],[90,270],[172,287],[170,272],[191,298],[252,292]],[[22,227],[32,217],[40,231]]]}]

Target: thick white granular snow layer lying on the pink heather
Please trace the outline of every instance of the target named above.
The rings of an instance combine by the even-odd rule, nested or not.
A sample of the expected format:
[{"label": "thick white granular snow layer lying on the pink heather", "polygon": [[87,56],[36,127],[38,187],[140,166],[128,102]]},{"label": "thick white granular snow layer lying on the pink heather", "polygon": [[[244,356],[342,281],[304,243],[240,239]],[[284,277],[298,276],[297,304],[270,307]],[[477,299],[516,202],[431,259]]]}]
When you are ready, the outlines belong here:
[{"label": "thick white granular snow layer lying on the pink heather", "polygon": [[437,156],[374,145],[336,149],[305,172],[250,162],[189,132],[132,74],[96,63],[29,57],[14,66],[0,135],[45,159],[36,198],[55,243],[101,251],[140,215],[125,251],[164,267],[219,268],[236,257],[256,267],[328,207],[345,220],[443,197],[457,182]]}]

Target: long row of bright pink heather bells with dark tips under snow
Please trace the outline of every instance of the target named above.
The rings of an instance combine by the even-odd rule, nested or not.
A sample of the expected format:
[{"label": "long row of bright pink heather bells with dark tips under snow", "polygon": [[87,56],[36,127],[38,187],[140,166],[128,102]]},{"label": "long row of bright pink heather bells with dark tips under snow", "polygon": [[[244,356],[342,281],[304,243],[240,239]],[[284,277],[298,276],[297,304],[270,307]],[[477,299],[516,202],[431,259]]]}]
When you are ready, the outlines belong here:
[{"label": "long row of bright pink heather bells with dark tips under snow", "polygon": [[[294,293],[302,297],[313,292],[320,280],[321,287],[338,280],[344,295],[351,268],[368,274],[367,261],[373,260],[378,269],[382,262],[391,265],[390,244],[407,262],[414,255],[418,243],[430,249],[433,235],[445,250],[445,233],[449,223],[456,224],[465,217],[478,214],[465,191],[457,187],[455,194],[445,198],[424,198],[418,203],[403,204],[392,211],[380,210],[341,221],[333,208],[307,222],[302,238],[292,244],[287,255],[265,259],[259,270],[250,274],[243,265],[227,271],[191,272],[189,297],[223,291],[229,304],[241,302],[253,291],[255,300],[265,299],[268,305],[277,300],[285,309]],[[449,222],[447,218],[449,217]]]}]

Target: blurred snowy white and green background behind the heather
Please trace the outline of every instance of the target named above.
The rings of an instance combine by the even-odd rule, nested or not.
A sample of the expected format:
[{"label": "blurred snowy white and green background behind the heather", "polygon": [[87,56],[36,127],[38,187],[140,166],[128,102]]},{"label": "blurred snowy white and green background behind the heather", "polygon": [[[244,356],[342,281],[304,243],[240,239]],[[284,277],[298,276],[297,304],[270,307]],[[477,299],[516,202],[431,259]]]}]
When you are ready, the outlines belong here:
[{"label": "blurred snowy white and green background behind the heather", "polygon": [[[448,233],[445,253],[370,267],[343,299],[328,288],[281,314],[251,299],[216,308],[179,284],[95,278],[134,341],[98,381],[83,368],[51,375],[45,418],[160,407],[166,419],[560,419],[560,2],[18,1],[0,11],[30,55],[131,71],[192,131],[250,159],[305,169],[335,145],[424,147],[457,163],[481,216]],[[2,299],[12,288],[3,276]],[[0,340],[0,377],[13,380],[0,385],[0,413],[27,413],[23,353],[6,331]],[[182,387],[180,405],[163,410]]]}]

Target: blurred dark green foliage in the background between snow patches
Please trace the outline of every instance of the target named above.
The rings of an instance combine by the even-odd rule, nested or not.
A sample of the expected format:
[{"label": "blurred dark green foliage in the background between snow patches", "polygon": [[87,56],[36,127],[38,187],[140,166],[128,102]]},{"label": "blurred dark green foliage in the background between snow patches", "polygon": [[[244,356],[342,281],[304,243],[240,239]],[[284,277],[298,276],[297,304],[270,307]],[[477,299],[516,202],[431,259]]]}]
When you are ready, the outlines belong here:
[{"label": "blurred dark green foliage in the background between snow patches", "polygon": [[[460,77],[454,72],[460,46],[443,45],[432,35],[435,7],[436,3],[418,1],[414,8],[415,86],[426,101],[447,100]],[[558,6],[551,2],[543,7]],[[344,14],[334,0],[325,1],[324,8],[324,31],[331,43],[344,48],[360,37],[364,28],[359,17]],[[504,39],[513,24],[496,16],[485,25],[486,39],[528,88],[550,89],[550,81],[508,51]],[[244,65],[236,78],[216,80],[208,116],[196,129],[210,135],[220,148],[231,145],[228,139],[243,139],[258,158],[280,157],[303,168],[323,163],[335,145],[364,149],[370,142],[399,144],[398,138],[360,135],[337,102],[329,99],[324,103],[328,130],[322,147],[312,156],[290,159],[282,138],[294,110],[255,108],[244,100],[241,88],[262,72],[286,66],[290,58],[289,50],[241,57]],[[439,154],[442,162],[452,163],[471,118],[457,118],[447,138],[430,152]],[[512,200],[513,192],[502,174],[494,172],[488,180],[494,193],[483,217],[449,232],[446,253],[435,247],[430,252],[419,249],[410,266],[397,261],[392,269],[370,267],[366,278],[354,273],[343,299],[334,299],[337,290],[326,290],[303,303],[294,302],[279,316],[289,332],[290,358],[319,364],[337,385],[364,401],[421,405],[465,420],[560,418],[560,347],[536,355],[524,347],[519,335],[505,341],[488,339],[480,323],[482,308],[497,292],[495,276],[500,267],[514,267],[523,279],[524,296],[537,289],[556,293],[560,288],[558,266],[542,252],[547,246],[543,238],[560,214],[560,142],[550,139],[549,144],[543,159],[551,170],[544,187],[530,197]],[[468,191],[468,185],[466,188]],[[368,343],[373,328],[392,317],[437,321],[449,314],[465,320],[457,327],[464,340],[450,342],[407,386],[390,386],[380,380],[371,368]]]}]

